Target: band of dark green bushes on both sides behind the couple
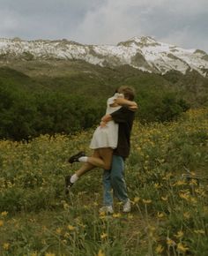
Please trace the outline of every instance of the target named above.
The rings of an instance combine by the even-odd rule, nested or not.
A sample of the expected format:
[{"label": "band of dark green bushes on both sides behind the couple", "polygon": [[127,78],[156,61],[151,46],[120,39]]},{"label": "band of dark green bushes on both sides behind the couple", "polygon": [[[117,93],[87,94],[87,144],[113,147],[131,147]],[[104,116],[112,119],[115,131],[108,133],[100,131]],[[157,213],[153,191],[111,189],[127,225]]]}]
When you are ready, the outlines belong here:
[{"label": "band of dark green bushes on both sides behind the couple", "polygon": [[[137,117],[141,122],[171,121],[188,109],[173,93],[148,91],[137,95]],[[40,134],[71,134],[99,124],[105,114],[106,99],[33,92],[0,84],[0,139],[29,139]]]}]

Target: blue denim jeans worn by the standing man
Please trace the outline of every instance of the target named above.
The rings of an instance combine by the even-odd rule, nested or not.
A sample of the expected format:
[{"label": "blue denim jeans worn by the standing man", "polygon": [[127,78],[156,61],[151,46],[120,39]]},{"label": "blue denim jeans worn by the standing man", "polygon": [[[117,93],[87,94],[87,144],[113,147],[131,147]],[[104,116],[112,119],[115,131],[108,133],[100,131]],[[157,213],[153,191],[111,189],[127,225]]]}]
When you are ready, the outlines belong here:
[{"label": "blue denim jeans worn by the standing man", "polygon": [[124,180],[124,162],[122,156],[113,154],[111,169],[105,169],[103,172],[103,188],[104,206],[113,206],[112,189],[118,200],[126,202],[129,199]]}]

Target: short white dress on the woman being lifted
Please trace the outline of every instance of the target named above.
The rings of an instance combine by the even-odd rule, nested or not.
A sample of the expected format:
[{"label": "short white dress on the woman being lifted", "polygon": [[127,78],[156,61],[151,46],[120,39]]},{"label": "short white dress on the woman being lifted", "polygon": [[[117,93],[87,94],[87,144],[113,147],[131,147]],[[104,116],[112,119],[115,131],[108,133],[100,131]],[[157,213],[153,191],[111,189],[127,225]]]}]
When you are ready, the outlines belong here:
[{"label": "short white dress on the woman being lifted", "polygon": [[[116,110],[120,109],[121,106],[111,107],[110,105],[114,103],[114,100],[121,94],[116,93],[113,97],[109,98],[107,101],[106,114],[111,114]],[[93,139],[90,143],[90,148],[96,149],[100,147],[111,147],[116,148],[118,143],[118,124],[109,121],[104,127],[97,127],[93,133]]]}]

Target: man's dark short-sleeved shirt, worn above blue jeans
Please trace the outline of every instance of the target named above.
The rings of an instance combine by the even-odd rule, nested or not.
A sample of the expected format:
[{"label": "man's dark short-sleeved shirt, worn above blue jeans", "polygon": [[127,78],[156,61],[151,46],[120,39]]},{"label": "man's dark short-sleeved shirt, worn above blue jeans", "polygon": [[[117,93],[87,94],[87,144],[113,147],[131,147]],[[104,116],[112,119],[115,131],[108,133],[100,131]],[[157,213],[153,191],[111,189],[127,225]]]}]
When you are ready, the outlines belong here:
[{"label": "man's dark short-sleeved shirt, worn above blue jeans", "polygon": [[110,114],[115,123],[119,124],[118,128],[118,145],[114,154],[126,158],[130,154],[130,132],[132,129],[135,112],[126,107],[122,107]]}]

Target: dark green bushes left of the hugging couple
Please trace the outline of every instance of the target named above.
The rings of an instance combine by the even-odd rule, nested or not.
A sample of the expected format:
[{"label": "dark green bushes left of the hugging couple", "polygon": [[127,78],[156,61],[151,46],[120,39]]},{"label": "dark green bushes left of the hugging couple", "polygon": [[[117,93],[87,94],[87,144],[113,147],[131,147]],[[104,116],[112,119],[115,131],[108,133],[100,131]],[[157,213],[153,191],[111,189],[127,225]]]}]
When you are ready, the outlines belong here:
[{"label": "dark green bushes left of the hugging couple", "polygon": [[84,96],[55,92],[29,94],[0,85],[0,139],[70,134],[97,124],[105,106]]}]

